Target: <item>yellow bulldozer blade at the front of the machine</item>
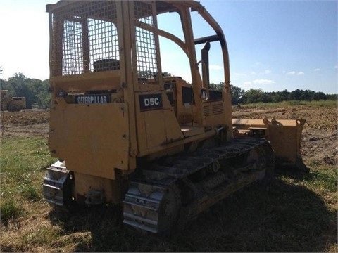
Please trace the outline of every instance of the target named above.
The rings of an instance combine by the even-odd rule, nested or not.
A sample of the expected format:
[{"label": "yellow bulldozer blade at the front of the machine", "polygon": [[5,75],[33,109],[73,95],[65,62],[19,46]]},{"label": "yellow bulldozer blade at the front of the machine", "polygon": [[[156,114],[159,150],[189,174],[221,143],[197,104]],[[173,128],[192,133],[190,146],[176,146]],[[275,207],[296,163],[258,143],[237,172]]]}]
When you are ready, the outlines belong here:
[{"label": "yellow bulldozer blade at the front of the machine", "polygon": [[308,172],[301,158],[301,131],[304,124],[305,119],[232,119],[235,137],[253,136],[270,142],[278,167]]}]

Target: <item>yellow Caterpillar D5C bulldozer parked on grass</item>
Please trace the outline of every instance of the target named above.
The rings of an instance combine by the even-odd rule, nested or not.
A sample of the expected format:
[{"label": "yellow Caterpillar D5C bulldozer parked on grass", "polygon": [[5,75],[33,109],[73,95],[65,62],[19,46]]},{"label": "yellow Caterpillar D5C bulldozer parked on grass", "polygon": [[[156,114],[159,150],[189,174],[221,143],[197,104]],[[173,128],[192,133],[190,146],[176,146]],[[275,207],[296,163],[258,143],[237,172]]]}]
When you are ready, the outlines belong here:
[{"label": "yellow Caterpillar D5C bulldozer parked on grass", "polygon": [[[232,119],[225,37],[198,2],[61,0],[46,9],[58,158],[44,178],[47,202],[120,205],[123,223],[166,233],[268,181],[275,160],[303,167],[303,120]],[[173,67],[187,81],[163,74]],[[215,72],[222,91],[209,88]]]}]

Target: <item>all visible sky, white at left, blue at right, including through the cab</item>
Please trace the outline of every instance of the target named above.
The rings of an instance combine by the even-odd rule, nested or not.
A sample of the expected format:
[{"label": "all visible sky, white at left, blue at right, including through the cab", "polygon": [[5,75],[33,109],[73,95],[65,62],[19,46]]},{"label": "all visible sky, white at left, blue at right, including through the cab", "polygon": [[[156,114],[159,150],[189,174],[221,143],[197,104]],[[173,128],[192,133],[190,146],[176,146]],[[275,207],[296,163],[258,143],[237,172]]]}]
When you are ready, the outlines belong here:
[{"label": "all visible sky, white at left, blue at right, including through the cab", "polygon": [[[0,0],[1,78],[15,72],[30,78],[49,78],[45,6],[54,3]],[[338,93],[337,1],[206,0],[201,4],[223,28],[234,86],[244,90]],[[195,33],[207,32],[199,26]],[[162,60],[168,56],[163,71],[185,77],[189,70],[177,64],[180,56],[175,53],[175,48],[163,52]],[[211,81],[221,82],[221,75]]]}]

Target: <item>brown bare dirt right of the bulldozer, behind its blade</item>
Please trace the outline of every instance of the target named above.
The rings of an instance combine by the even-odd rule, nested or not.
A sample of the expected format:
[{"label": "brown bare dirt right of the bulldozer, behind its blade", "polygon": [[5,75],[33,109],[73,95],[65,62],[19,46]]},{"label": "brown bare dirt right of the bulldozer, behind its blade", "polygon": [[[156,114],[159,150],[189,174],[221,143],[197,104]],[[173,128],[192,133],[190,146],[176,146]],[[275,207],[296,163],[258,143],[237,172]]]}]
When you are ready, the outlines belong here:
[{"label": "brown bare dirt right of the bulldozer, behind its blade", "polygon": [[337,164],[337,108],[311,106],[287,108],[234,108],[233,117],[244,119],[305,119],[301,137],[301,155],[308,160],[318,160],[321,164]]}]

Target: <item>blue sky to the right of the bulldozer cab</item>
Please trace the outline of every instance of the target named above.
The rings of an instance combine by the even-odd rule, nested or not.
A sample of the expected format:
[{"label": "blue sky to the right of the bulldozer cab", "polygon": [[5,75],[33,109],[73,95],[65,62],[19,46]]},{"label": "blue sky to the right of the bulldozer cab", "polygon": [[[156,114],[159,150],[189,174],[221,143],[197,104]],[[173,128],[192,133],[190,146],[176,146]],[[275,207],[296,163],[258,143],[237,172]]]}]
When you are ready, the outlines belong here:
[{"label": "blue sky to the right of the bulldozer cab", "polygon": [[232,84],[337,93],[337,1],[204,4],[227,38]]}]

